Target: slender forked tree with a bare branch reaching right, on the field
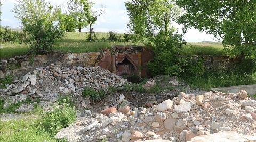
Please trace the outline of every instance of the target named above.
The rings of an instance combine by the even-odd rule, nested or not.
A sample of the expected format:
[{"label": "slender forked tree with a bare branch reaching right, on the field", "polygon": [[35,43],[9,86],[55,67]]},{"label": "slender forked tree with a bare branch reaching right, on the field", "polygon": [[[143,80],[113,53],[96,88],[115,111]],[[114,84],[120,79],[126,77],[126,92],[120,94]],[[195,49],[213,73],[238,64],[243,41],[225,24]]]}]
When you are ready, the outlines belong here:
[{"label": "slender forked tree with a bare branch reaching right, on the field", "polygon": [[86,21],[89,24],[90,34],[87,40],[93,40],[93,28],[92,25],[97,21],[98,17],[105,12],[105,8],[101,7],[100,11],[92,10],[94,3],[89,0],[83,1]]}]

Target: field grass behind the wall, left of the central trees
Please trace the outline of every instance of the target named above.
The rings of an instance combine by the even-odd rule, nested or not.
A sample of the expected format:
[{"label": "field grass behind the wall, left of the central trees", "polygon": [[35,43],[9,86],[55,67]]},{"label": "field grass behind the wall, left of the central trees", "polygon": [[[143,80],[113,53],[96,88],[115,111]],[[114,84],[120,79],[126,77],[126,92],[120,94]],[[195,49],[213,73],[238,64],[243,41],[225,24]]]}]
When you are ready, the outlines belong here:
[{"label": "field grass behind the wall, left of the central trees", "polygon": [[[82,53],[82,52],[97,52],[103,47],[121,45],[141,45],[141,43],[132,42],[109,42],[107,41],[108,33],[96,33],[97,41],[88,42],[86,40],[87,32],[67,32],[63,39],[59,39],[54,45],[53,50],[62,51],[65,53]],[[119,34],[122,36],[123,34]],[[17,55],[28,55],[30,47],[26,43],[5,43],[1,42],[0,59],[11,58]]]}]

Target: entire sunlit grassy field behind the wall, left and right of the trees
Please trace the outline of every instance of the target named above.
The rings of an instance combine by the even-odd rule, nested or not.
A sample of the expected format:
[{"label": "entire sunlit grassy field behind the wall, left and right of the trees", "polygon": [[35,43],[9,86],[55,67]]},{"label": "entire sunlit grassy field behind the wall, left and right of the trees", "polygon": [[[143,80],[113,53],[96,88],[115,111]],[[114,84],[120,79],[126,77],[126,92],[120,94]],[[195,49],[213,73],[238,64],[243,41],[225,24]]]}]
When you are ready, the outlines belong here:
[{"label": "entire sunlit grassy field behind the wall, left and right of the trees", "polygon": [[[96,52],[100,51],[103,47],[109,48],[114,45],[142,45],[136,42],[109,42],[107,41],[108,33],[96,33],[97,41],[87,42],[86,38],[89,33],[87,32],[67,32],[63,39],[60,39],[53,46],[53,50],[62,52]],[[123,34],[118,34],[123,39]],[[11,58],[17,55],[28,55],[29,45],[22,43],[4,43],[0,45],[0,59]],[[179,53],[182,55],[223,55],[223,46],[218,42],[206,43],[187,43]]]}]

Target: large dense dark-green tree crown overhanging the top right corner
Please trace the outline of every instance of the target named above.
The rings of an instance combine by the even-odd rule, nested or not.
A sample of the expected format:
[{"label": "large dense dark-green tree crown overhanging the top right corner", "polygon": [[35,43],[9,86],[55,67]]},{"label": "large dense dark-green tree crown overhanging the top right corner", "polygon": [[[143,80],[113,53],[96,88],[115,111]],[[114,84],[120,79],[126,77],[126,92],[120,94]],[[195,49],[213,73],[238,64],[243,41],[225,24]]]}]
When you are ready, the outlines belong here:
[{"label": "large dense dark-green tree crown overhanging the top right corner", "polygon": [[256,58],[256,1],[176,0],[186,12],[178,20],[188,28],[223,39],[229,54]]}]

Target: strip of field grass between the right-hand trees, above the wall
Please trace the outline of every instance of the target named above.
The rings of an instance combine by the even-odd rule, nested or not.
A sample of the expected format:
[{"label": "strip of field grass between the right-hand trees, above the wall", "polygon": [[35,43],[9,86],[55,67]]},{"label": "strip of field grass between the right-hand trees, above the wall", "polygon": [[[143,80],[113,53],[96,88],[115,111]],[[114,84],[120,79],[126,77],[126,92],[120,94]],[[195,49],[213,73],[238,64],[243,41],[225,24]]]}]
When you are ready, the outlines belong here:
[{"label": "strip of field grass between the right-hand trees, above the wall", "polygon": [[181,55],[225,55],[223,45],[220,43],[187,43],[178,49]]}]

